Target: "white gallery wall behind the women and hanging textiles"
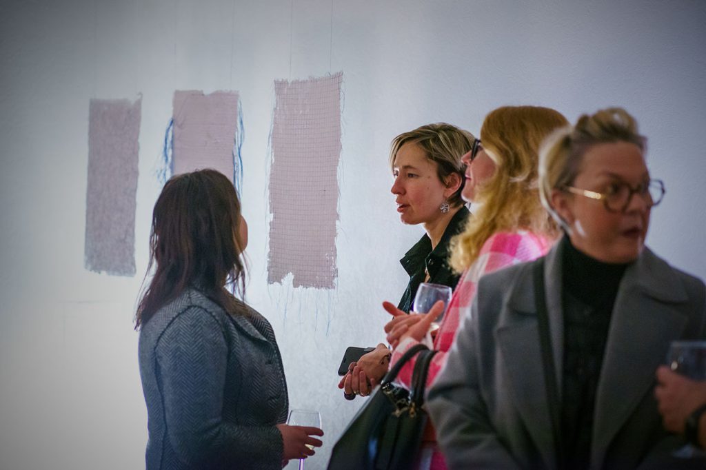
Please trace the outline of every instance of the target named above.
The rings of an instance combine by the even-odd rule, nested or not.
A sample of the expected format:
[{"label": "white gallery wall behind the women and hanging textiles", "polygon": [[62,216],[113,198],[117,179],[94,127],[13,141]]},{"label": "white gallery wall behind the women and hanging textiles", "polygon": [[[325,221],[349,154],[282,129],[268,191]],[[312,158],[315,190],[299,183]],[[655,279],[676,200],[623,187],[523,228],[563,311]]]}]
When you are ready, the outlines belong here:
[{"label": "white gallery wall behind the women and hanging textiles", "polygon": [[[362,403],[336,387],[342,353],[384,339],[381,301],[422,234],[389,192],[397,133],[478,133],[503,104],[570,121],[626,107],[667,188],[648,244],[706,277],[705,25],[699,0],[0,0],[0,469],[144,466],[133,315],[174,90],[241,96],[246,300],[275,328],[290,406],[321,411],[321,469]],[[337,71],[337,287],[268,285],[273,81]],[[99,275],[83,267],[88,104],[140,95],[137,275]]]}]

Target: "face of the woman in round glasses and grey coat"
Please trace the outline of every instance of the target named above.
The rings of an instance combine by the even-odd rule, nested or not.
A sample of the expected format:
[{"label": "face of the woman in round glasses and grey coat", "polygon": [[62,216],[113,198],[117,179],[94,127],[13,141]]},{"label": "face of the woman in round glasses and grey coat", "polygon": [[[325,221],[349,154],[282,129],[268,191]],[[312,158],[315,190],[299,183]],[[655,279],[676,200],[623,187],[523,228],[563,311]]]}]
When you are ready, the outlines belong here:
[{"label": "face of the woman in round glasses and grey coat", "polygon": [[[584,154],[574,188],[601,194],[615,193],[616,188],[637,188],[650,181],[640,148],[632,143],[602,143]],[[570,225],[573,245],[605,263],[629,263],[645,246],[650,226],[649,196],[631,193],[624,210],[609,210],[604,200],[555,191],[553,201]],[[561,209],[560,209],[561,207]]]}]

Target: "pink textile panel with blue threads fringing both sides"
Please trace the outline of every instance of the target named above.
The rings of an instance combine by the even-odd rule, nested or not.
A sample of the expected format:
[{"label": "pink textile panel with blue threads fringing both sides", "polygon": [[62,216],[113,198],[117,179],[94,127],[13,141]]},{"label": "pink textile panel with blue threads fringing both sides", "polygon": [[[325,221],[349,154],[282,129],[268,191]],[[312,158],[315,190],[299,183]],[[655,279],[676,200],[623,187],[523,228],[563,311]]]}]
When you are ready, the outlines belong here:
[{"label": "pink textile panel with blue threads fringing both sides", "polygon": [[174,92],[172,174],[212,168],[233,181],[238,93]]}]

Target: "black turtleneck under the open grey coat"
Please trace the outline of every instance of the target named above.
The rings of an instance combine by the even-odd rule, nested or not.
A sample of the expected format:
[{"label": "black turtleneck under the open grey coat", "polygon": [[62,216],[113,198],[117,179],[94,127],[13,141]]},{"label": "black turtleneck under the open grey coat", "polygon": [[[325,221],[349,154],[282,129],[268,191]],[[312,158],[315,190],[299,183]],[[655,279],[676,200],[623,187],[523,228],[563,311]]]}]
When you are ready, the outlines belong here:
[{"label": "black turtleneck under the open grey coat", "polygon": [[564,357],[562,435],[567,469],[590,463],[596,390],[611,313],[628,264],[603,263],[561,240]]}]

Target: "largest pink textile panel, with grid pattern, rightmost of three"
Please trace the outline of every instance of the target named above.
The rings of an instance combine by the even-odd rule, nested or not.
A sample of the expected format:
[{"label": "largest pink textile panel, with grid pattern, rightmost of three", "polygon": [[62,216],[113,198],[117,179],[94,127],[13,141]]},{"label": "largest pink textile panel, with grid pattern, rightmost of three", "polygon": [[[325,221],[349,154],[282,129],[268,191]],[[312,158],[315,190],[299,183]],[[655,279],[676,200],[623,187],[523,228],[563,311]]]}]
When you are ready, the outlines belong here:
[{"label": "largest pink textile panel, with grid pattern, rightmost of three", "polygon": [[268,282],[333,289],[343,73],[275,81]]}]

